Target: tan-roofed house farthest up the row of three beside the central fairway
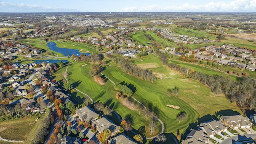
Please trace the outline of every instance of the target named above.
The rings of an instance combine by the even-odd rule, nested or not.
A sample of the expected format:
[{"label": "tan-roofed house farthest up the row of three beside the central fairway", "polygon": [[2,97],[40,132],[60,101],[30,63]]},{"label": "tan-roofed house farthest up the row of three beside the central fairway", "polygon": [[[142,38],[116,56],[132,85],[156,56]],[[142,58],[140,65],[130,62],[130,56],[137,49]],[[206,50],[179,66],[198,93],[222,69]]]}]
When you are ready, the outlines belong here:
[{"label": "tan-roofed house farthest up the row of three beside the central fairway", "polygon": [[98,114],[96,114],[96,112],[89,106],[76,109],[76,114],[73,117],[75,116],[79,116],[79,118],[84,121],[94,121],[98,119]]}]

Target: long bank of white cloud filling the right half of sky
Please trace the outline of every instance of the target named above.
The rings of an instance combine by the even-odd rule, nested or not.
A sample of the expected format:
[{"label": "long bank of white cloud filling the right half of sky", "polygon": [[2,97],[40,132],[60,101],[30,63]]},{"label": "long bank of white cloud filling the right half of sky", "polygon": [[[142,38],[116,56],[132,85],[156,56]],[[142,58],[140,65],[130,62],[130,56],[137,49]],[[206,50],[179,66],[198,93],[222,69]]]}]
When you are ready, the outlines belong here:
[{"label": "long bank of white cloud filling the right half of sky", "polygon": [[209,2],[204,5],[182,4],[180,6],[144,6],[124,8],[124,12],[255,12],[256,0],[234,0],[226,2]]}]

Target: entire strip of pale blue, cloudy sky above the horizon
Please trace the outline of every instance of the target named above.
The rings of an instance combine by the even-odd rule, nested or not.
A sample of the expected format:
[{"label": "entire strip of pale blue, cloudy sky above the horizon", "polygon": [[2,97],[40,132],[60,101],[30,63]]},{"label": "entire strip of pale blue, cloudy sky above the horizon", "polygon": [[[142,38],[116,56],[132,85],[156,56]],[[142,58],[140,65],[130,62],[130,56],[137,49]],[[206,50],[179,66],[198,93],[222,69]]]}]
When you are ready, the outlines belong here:
[{"label": "entire strip of pale blue, cloudy sky above the horizon", "polygon": [[0,12],[256,12],[256,0],[0,0]]}]

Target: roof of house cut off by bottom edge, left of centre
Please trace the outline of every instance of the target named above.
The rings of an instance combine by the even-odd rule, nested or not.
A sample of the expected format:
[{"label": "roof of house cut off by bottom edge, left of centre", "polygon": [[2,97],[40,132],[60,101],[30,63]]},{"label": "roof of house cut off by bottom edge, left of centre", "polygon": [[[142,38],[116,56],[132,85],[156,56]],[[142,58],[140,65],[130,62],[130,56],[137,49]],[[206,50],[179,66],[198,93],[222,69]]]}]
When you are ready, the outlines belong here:
[{"label": "roof of house cut off by bottom edge, left of centre", "polygon": [[115,137],[108,140],[109,144],[138,144],[134,142],[131,138],[126,136],[124,133],[118,134]]}]

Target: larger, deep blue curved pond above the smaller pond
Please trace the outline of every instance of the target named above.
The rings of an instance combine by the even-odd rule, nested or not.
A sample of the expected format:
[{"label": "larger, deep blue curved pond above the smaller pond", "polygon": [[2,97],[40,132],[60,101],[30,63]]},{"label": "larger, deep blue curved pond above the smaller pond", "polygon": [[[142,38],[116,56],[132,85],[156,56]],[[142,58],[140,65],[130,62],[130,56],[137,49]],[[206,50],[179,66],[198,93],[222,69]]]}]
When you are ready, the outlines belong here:
[{"label": "larger, deep blue curved pond above the smaller pond", "polygon": [[64,56],[80,56],[81,54],[85,54],[86,56],[90,55],[91,53],[81,53],[79,50],[71,49],[71,48],[59,48],[55,42],[49,42],[46,46],[55,52],[62,53]]}]

